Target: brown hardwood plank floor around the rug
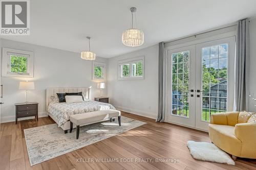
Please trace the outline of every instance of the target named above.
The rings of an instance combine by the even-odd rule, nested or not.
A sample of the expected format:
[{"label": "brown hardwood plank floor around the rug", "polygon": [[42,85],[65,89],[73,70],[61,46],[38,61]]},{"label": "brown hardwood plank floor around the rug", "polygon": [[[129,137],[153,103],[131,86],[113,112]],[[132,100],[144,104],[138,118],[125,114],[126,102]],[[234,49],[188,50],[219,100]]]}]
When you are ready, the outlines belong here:
[{"label": "brown hardwood plank floor around the rug", "polygon": [[[17,125],[15,122],[1,124],[0,169],[256,169],[256,160],[252,159],[238,158],[236,166],[193,159],[186,142],[210,142],[205,132],[156,123],[154,119],[130,113],[122,112],[122,115],[147,124],[32,167],[23,130],[53,124],[54,121],[50,117],[43,117],[38,122],[31,119],[19,121]],[[102,161],[96,162],[97,158],[102,158]],[[89,159],[94,162],[89,162]],[[112,162],[107,159],[112,159]],[[121,162],[129,159],[134,162]],[[156,162],[156,159],[176,159],[179,162]],[[118,162],[113,162],[115,160]]]}]

